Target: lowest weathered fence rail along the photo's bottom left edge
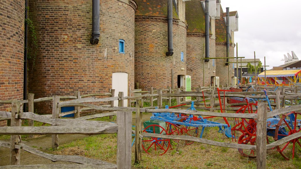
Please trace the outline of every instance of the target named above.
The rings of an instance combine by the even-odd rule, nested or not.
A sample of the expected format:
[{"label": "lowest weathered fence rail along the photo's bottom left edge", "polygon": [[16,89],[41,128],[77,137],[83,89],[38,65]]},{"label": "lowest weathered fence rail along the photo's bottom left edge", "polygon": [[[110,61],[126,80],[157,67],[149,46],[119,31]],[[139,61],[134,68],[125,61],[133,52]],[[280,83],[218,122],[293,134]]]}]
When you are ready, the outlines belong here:
[{"label": "lowest weathered fence rail along the photo's bottom left edge", "polygon": [[[34,164],[34,165],[5,165],[0,169],[100,169],[97,165],[84,164]],[[101,169],[117,169],[117,167],[102,166]]]}]

